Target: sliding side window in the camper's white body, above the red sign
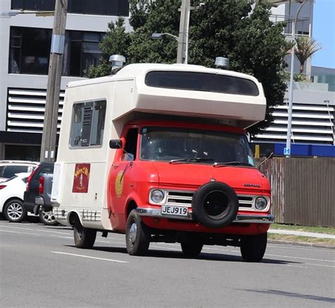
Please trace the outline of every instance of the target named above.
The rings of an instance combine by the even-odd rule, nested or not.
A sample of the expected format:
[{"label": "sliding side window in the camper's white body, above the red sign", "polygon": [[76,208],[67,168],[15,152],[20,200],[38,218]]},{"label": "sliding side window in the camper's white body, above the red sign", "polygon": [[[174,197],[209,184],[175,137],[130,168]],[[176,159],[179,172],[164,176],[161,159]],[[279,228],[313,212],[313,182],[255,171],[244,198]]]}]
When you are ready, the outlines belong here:
[{"label": "sliding side window in the camper's white body, above the red sign", "polygon": [[79,102],[72,112],[70,146],[101,146],[105,126],[106,101]]}]

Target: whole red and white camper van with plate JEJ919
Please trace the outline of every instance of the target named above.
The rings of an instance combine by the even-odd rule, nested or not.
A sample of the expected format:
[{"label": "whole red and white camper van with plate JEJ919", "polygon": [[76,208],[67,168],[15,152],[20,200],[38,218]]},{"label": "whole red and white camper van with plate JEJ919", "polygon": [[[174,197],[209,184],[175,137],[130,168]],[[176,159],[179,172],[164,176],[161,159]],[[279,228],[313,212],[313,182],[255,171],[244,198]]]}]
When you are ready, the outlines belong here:
[{"label": "whole red and white camper van with plate JEJ919", "polygon": [[131,255],[178,242],[189,257],[216,244],[260,261],[271,188],[245,127],[265,109],[256,78],[204,66],[129,64],[69,83],[52,186],[57,221],[74,227],[78,248],[118,232]]}]

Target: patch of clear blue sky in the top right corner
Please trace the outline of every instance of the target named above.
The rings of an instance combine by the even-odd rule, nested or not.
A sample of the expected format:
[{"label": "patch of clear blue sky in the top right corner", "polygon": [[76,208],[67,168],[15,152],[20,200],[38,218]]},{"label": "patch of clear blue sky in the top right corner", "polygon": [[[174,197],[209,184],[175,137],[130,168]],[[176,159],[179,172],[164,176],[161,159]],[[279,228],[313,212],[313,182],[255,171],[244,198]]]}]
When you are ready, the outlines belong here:
[{"label": "patch of clear blue sky in the top right corner", "polygon": [[335,69],[335,0],[315,0],[312,34],[322,46],[312,65]]}]

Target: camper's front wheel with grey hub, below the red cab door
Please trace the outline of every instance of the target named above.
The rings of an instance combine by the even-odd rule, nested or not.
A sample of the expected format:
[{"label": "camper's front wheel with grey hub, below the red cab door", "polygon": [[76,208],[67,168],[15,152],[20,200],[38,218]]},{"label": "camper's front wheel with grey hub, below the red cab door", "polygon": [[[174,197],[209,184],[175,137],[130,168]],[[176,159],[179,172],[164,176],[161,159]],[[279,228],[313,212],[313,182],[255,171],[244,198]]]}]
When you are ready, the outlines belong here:
[{"label": "camper's front wheel with grey hub, below the red cab door", "polygon": [[131,256],[145,256],[148,252],[151,235],[141,217],[132,210],[126,224],[126,245]]}]

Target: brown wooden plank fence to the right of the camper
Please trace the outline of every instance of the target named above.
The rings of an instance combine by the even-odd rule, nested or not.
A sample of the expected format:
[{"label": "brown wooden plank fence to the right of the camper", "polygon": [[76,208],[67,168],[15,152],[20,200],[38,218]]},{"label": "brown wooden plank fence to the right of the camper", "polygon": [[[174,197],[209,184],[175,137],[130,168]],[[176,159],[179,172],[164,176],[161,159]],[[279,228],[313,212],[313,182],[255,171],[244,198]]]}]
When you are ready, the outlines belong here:
[{"label": "brown wooden plank fence to the right of the camper", "polygon": [[278,223],[335,227],[335,159],[274,158],[261,165]]}]

